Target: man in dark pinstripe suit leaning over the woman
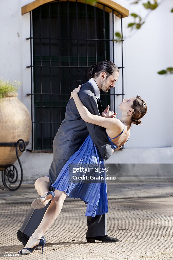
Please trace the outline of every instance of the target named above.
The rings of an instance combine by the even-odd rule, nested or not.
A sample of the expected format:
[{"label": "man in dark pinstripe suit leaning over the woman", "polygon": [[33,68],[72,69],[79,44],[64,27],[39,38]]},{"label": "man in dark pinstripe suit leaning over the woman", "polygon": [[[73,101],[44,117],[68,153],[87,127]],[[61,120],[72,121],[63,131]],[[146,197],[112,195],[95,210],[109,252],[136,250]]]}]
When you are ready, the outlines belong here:
[{"label": "man in dark pinstripe suit leaning over the woman", "polygon": [[[104,92],[115,87],[119,76],[119,69],[111,61],[103,61],[98,65],[91,66],[89,70],[89,81],[82,85],[79,97],[87,109],[95,115],[101,115],[102,106],[100,102],[100,89]],[[107,109],[104,111],[107,112]],[[98,134],[99,133],[99,134]],[[57,176],[67,160],[79,149],[86,137],[90,134],[94,144],[98,147],[103,159],[107,160],[112,155],[112,148],[108,144],[105,129],[84,122],[75,106],[74,100],[68,101],[65,119],[61,123],[53,140],[53,162],[49,170],[50,190]],[[50,202],[43,209],[31,209],[26,216],[22,227],[17,232],[17,237],[25,246],[29,237],[39,226]],[[95,240],[103,242],[118,242],[119,239],[107,235],[106,214],[87,217],[88,230],[86,232],[87,242]]]}]

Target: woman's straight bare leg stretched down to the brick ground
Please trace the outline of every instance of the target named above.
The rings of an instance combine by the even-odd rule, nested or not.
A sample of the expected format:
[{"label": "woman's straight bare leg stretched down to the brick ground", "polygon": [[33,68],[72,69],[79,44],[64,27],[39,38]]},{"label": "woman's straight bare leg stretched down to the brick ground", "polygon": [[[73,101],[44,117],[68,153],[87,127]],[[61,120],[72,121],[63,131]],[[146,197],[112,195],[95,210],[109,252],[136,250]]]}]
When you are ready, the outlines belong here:
[{"label": "woman's straight bare leg stretched down to the brick ground", "polygon": [[[37,187],[37,189],[39,188]],[[51,201],[49,207],[47,208],[40,225],[32,234],[32,237],[43,236],[45,231],[49,228],[49,226],[54,222],[54,220],[58,217],[59,213],[61,212],[64,200],[67,195],[63,191],[55,190],[54,192],[55,192],[55,197]],[[39,240],[32,237],[28,240],[27,244],[25,245],[25,248],[26,247],[33,248],[35,245],[39,244]]]}]

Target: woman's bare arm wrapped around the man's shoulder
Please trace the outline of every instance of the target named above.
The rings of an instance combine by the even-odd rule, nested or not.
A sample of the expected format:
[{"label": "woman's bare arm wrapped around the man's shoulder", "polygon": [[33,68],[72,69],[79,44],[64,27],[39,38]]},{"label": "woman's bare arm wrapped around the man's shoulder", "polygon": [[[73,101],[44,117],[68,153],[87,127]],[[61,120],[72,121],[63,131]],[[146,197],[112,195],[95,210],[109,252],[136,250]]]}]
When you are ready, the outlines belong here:
[{"label": "woman's bare arm wrapped around the man's shoulder", "polygon": [[81,86],[79,86],[78,88],[76,88],[72,91],[71,98],[73,97],[76,107],[79,111],[79,114],[85,122],[92,123],[92,124],[98,125],[98,126],[102,126],[107,129],[110,129],[110,130],[114,130],[115,127],[116,127],[116,130],[117,130],[117,127],[122,128],[122,126],[121,126],[122,123],[119,119],[104,118],[102,116],[91,114],[88,111],[88,109],[84,106],[84,104],[81,102],[81,100],[78,96],[80,87]]}]

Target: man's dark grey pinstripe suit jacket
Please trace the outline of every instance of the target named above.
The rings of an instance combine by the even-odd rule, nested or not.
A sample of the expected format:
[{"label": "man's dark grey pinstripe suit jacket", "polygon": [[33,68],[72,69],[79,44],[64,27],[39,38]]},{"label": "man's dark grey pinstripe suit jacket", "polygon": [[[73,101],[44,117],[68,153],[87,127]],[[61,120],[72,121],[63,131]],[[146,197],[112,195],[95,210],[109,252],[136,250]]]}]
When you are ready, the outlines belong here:
[{"label": "man's dark grey pinstripe suit jacket", "polygon": [[[90,113],[101,114],[101,102],[96,98],[94,89],[88,81],[82,85],[79,97]],[[72,98],[68,101],[65,118],[53,140],[53,157],[68,160],[79,149],[88,134],[102,158],[107,160],[112,154],[112,148],[108,144],[105,128],[84,122]]]}]

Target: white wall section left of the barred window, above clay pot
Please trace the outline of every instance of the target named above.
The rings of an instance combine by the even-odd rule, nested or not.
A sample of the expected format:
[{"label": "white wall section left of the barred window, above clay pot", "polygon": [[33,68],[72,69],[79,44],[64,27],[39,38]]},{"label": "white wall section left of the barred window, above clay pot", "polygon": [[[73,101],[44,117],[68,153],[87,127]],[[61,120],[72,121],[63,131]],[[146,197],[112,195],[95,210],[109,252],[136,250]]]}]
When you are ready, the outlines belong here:
[{"label": "white wall section left of the barred window, above clay pot", "polygon": [[[27,93],[31,92],[31,71],[26,68],[30,65],[30,16],[21,15],[21,7],[27,1],[1,1],[0,9],[0,77],[10,81],[22,82],[18,90],[18,98],[31,113],[31,100]],[[3,8],[2,8],[3,6]],[[31,141],[27,148],[31,148]]]}]

